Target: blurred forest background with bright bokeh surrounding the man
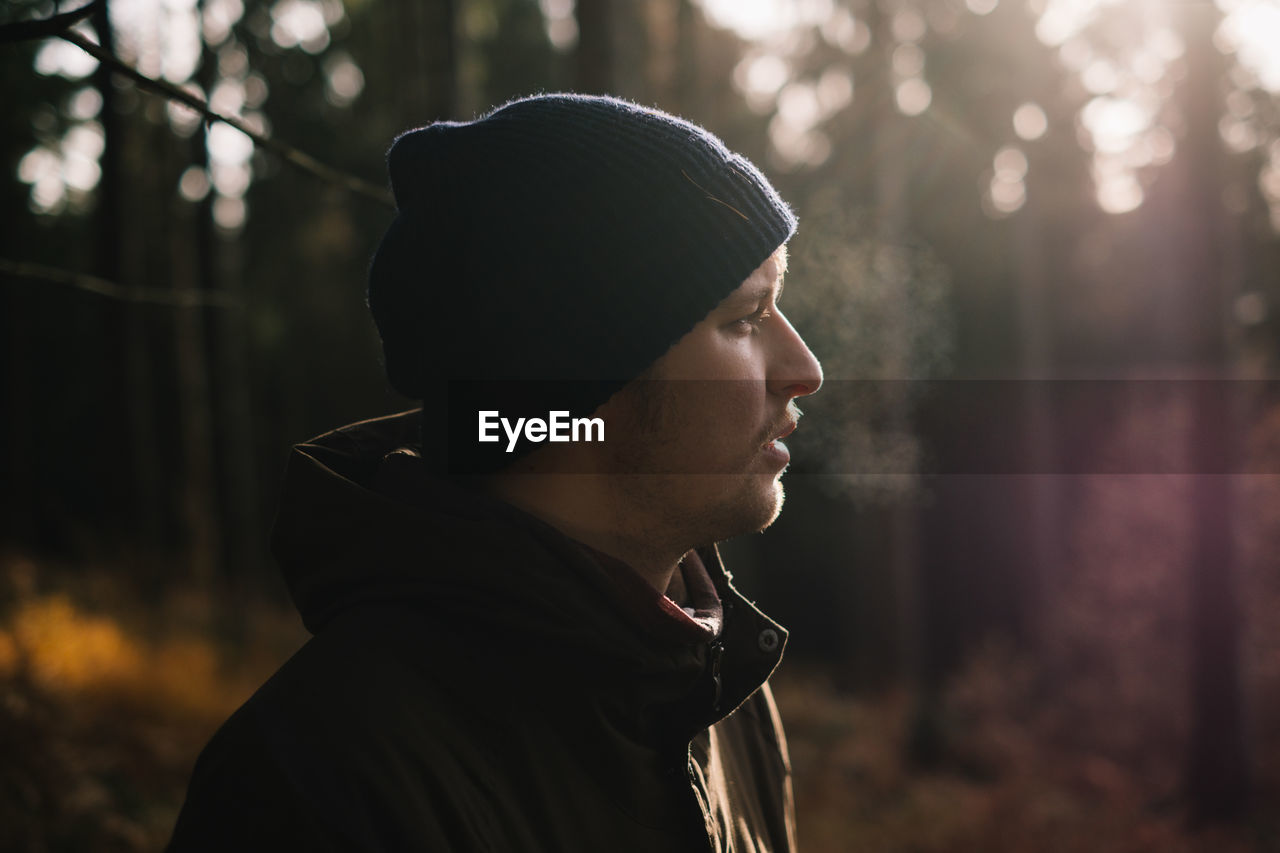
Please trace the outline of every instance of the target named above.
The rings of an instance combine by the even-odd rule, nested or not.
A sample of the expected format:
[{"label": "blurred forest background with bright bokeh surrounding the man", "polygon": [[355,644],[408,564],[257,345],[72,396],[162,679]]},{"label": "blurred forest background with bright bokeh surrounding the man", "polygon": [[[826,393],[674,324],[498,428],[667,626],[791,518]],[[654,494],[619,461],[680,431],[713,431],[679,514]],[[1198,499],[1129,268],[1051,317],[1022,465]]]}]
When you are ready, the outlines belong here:
[{"label": "blurred forest background with bright bokeh surrounding the man", "polygon": [[800,215],[828,383],[787,511],[726,549],[792,629],[803,847],[1280,850],[1276,3],[108,0],[68,33],[292,155],[27,26],[76,5],[0,10],[0,848],[163,845],[305,639],[288,446],[410,405],[364,306],[387,146],[575,90],[713,129]]}]

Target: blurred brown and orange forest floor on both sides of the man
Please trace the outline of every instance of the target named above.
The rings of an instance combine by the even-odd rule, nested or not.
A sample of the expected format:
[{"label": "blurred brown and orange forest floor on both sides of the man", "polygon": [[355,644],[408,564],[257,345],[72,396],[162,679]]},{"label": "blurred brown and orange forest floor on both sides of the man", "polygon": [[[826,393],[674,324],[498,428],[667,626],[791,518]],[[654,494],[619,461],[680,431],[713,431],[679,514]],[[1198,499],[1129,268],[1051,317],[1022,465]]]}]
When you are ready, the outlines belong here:
[{"label": "blurred brown and orange forest floor on both sides of the man", "polygon": [[[204,743],[303,642],[297,616],[193,594],[145,605],[109,576],[51,580],[15,558],[0,584],[0,849],[161,849]],[[1052,715],[1009,698],[1021,678],[1000,654],[961,674],[923,762],[908,758],[922,754],[911,694],[854,695],[785,665],[801,849],[1280,850],[1265,807],[1188,829],[1176,777],[1064,743]]]}]

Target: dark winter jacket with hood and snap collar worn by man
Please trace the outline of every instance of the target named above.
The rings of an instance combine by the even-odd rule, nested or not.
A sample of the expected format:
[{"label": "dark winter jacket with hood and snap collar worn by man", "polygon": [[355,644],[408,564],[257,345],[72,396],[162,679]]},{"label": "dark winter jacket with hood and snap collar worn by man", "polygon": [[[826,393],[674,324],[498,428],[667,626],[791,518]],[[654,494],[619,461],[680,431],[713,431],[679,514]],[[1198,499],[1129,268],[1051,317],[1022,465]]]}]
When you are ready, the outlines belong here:
[{"label": "dark winter jacket with hood and snap collar worn by man", "polygon": [[794,849],[786,631],[714,549],[685,561],[690,616],[424,476],[392,452],[416,430],[296,448],[275,551],[314,637],[205,748],[170,849]]}]

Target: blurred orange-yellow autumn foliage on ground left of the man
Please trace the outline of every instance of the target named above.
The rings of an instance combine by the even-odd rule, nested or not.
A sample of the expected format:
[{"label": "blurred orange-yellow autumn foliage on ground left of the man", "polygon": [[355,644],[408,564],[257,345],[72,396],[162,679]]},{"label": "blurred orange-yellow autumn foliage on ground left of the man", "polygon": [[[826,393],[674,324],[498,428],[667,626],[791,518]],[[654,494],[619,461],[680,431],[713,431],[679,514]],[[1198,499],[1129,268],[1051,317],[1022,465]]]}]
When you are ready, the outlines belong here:
[{"label": "blurred orange-yellow autumn foliage on ground left of the man", "polygon": [[17,557],[0,583],[0,849],[163,848],[200,748],[301,643],[296,616],[143,606]]}]

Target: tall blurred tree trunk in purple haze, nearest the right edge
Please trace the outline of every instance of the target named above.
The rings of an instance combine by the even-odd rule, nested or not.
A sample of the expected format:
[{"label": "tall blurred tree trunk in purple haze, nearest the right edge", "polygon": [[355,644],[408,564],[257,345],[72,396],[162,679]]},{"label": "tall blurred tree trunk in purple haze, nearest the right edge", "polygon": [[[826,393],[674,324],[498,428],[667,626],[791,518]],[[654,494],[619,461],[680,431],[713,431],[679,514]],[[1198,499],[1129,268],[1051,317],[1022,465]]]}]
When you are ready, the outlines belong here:
[{"label": "tall blurred tree trunk in purple haze, nearest the right edge", "polygon": [[1226,348],[1220,183],[1224,152],[1215,133],[1216,85],[1221,58],[1211,37],[1212,8],[1181,4],[1181,35],[1188,74],[1183,83],[1187,137],[1175,179],[1183,191],[1179,233],[1185,295],[1187,355],[1197,374],[1190,461],[1196,471],[1192,507],[1190,702],[1192,730],[1187,756],[1187,793],[1197,822],[1229,820],[1247,807],[1249,763],[1245,753],[1240,688],[1240,613],[1236,602],[1236,555],[1233,530],[1234,388]]}]

